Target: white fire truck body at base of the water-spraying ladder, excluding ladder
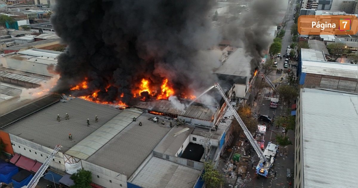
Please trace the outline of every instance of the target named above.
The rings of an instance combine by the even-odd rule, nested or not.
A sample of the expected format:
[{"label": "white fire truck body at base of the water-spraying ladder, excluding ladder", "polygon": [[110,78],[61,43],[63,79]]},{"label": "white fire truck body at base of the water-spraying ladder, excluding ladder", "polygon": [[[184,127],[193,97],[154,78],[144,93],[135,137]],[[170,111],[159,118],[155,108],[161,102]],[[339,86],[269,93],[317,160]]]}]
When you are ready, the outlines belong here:
[{"label": "white fire truck body at base of the water-spraying ladder, excluding ladder", "polygon": [[258,163],[256,167],[256,174],[262,175],[263,177],[266,178],[269,177],[270,169],[274,164],[278,151],[279,151],[279,145],[272,144],[271,142],[267,144],[265,151],[263,151],[263,155],[265,155],[267,163],[266,164],[261,162]]}]

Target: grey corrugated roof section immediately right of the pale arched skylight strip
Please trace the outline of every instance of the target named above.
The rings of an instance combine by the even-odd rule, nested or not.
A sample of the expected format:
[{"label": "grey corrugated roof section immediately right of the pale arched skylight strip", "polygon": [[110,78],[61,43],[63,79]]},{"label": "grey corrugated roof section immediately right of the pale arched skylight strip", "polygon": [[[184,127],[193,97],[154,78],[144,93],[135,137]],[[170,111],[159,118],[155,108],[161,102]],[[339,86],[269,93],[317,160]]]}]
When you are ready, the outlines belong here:
[{"label": "grey corrugated roof section immediately right of the pale arched skylight strip", "polygon": [[[149,120],[153,117],[155,116],[143,113],[87,161],[130,177],[170,131],[169,127]],[[131,116],[122,118],[127,120]],[[160,119],[160,122],[162,120],[164,119]],[[139,126],[139,122],[142,122],[142,126]],[[169,125],[169,121],[165,122]]]}]

